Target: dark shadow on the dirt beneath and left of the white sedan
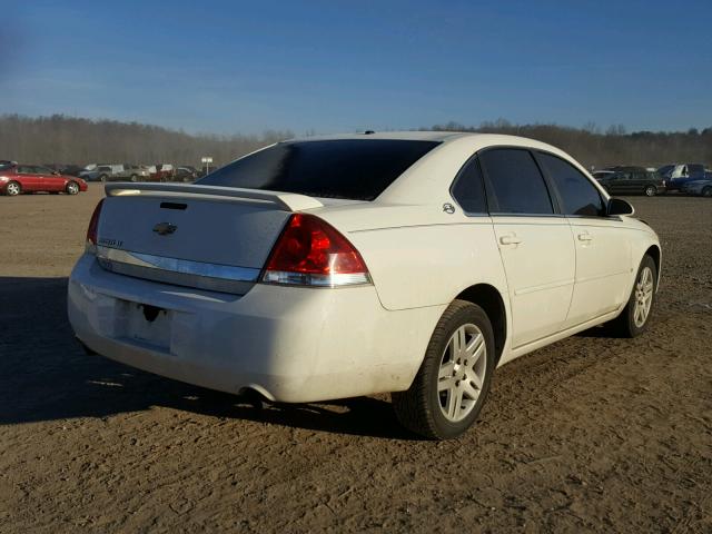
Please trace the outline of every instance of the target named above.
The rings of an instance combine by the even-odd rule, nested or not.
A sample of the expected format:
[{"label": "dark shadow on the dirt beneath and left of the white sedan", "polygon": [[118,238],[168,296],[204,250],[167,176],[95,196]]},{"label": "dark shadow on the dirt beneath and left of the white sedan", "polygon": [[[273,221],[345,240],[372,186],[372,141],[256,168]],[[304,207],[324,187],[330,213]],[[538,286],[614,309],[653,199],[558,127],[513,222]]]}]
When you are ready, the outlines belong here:
[{"label": "dark shadow on the dirt beneath and left of the white sedan", "polygon": [[417,439],[386,400],[275,405],[85,354],[67,319],[67,278],[0,277],[0,425],[108,417],[166,406],[339,434]]}]

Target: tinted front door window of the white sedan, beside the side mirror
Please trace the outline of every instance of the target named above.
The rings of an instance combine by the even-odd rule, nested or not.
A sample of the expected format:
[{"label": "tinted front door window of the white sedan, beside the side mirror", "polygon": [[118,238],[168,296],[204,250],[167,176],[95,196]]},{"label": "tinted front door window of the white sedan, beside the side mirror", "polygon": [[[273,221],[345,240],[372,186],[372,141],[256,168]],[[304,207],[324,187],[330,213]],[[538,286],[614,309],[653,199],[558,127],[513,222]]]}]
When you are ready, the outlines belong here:
[{"label": "tinted front door window of the white sedan, beside the side mirror", "polygon": [[551,154],[537,154],[537,158],[554,181],[566,215],[597,217],[605,214],[599,190],[578,169]]}]

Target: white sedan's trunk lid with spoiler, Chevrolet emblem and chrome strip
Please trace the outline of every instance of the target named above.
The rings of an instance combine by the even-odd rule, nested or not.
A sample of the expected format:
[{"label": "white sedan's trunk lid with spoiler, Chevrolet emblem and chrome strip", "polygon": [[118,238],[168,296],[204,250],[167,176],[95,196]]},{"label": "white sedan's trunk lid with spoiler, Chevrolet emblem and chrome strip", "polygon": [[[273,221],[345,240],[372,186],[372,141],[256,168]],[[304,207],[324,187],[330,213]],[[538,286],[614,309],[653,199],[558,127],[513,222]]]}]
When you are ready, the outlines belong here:
[{"label": "white sedan's trunk lid with spoiler, Chevrolet emblem and chrome strip", "polygon": [[185,184],[110,184],[97,257],[118,274],[244,294],[308,196]]}]

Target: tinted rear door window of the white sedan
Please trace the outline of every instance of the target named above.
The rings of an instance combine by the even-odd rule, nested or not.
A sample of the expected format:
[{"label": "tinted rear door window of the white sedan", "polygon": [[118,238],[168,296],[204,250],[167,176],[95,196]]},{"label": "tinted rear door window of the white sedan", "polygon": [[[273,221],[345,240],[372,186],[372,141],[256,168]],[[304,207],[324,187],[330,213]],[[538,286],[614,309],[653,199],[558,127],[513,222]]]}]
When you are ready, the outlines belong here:
[{"label": "tinted rear door window of the white sedan", "polygon": [[479,156],[485,172],[490,211],[551,215],[554,212],[544,177],[528,150],[496,148]]}]

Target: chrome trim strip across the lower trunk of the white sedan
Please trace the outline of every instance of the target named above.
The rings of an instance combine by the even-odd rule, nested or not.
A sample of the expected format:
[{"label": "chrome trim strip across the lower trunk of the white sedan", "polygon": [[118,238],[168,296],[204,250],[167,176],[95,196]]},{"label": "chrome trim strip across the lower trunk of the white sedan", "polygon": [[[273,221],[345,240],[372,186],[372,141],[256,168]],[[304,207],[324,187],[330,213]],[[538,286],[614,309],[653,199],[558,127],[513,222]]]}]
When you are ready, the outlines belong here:
[{"label": "chrome trim strip across the lower trunk of the white sedan", "polygon": [[257,283],[260,269],[168,258],[98,246],[99,265],[111,273],[136,278],[245,295]]}]

